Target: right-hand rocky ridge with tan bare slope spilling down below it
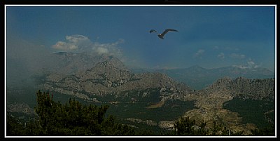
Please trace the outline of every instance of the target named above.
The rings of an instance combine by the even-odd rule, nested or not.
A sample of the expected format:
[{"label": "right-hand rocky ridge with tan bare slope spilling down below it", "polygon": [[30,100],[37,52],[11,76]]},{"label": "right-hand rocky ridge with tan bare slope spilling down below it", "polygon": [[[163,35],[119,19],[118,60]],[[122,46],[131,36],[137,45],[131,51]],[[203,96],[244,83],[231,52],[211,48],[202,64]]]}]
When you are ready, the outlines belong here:
[{"label": "right-hand rocky ridge with tan bare slope spilling down below it", "polygon": [[256,126],[251,123],[243,124],[242,118],[237,112],[223,109],[223,103],[232,100],[232,98],[274,102],[274,81],[274,79],[246,79],[242,77],[218,79],[211,86],[195,92],[197,94],[193,99],[196,100],[195,106],[197,108],[186,112],[185,116],[199,122],[205,121],[208,127],[213,126],[213,121],[217,121],[231,128],[233,132],[245,130],[245,134],[248,135],[250,129],[256,128]]}]

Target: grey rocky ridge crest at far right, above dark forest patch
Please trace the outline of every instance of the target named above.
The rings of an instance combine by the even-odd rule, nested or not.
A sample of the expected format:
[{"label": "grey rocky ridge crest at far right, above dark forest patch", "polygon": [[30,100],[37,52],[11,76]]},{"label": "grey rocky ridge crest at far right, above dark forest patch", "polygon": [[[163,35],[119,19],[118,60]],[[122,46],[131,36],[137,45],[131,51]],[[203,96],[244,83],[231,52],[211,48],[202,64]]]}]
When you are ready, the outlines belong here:
[{"label": "grey rocky ridge crest at far right, above dark forest patch", "polygon": [[221,92],[222,95],[229,93],[231,97],[243,99],[262,100],[266,98],[274,100],[275,79],[246,79],[243,77],[230,79],[225,77],[200,91],[204,94],[214,92]]}]

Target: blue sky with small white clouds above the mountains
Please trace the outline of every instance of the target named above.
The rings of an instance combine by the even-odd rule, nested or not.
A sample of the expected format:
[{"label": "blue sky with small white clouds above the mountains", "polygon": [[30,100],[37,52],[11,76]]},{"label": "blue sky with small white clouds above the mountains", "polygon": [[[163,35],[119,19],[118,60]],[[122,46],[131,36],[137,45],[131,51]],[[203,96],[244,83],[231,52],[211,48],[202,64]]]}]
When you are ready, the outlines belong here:
[{"label": "blue sky with small white clouds above the mountains", "polygon": [[[274,6],[7,6],[7,50],[111,54],[128,67],[265,67],[274,72]],[[155,32],[176,29],[160,39]],[[17,44],[18,43],[18,44]],[[7,56],[21,56],[13,53]],[[19,50],[18,50],[19,51]],[[36,59],[36,58],[34,58]]]}]

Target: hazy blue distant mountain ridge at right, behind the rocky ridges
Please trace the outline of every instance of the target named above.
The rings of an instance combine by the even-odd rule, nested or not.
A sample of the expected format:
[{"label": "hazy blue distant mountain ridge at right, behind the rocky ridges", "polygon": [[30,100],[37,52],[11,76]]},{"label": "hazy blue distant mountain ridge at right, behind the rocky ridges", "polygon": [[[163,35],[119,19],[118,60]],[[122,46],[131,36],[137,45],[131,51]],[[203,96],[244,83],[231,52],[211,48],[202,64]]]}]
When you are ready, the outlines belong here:
[{"label": "hazy blue distant mountain ridge at right, behind the rocky ridges", "polygon": [[230,77],[244,77],[248,79],[267,79],[274,78],[274,73],[269,69],[258,67],[255,69],[242,69],[237,66],[219,67],[214,69],[205,69],[198,65],[186,69],[158,69],[155,72],[162,72],[171,76],[176,81],[186,83],[186,85],[200,90],[214,83],[217,79]]}]

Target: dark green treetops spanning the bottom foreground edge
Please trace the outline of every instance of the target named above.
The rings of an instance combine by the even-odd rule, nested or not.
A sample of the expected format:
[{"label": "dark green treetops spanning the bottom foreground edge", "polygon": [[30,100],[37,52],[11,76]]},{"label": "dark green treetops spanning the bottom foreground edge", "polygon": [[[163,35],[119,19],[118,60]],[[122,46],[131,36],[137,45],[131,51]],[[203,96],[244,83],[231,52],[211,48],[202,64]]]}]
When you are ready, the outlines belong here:
[{"label": "dark green treetops spanning the bottom foreground edge", "polygon": [[[109,105],[83,105],[69,98],[65,104],[55,102],[49,92],[36,93],[36,117],[22,121],[10,113],[6,114],[6,135],[8,136],[153,136],[153,135],[243,135],[243,131],[230,130],[214,122],[212,128],[195,119],[181,117],[174,123],[174,130],[153,130],[134,128],[116,121],[116,116],[106,114]],[[274,135],[274,127],[251,130],[251,135]]]}]

